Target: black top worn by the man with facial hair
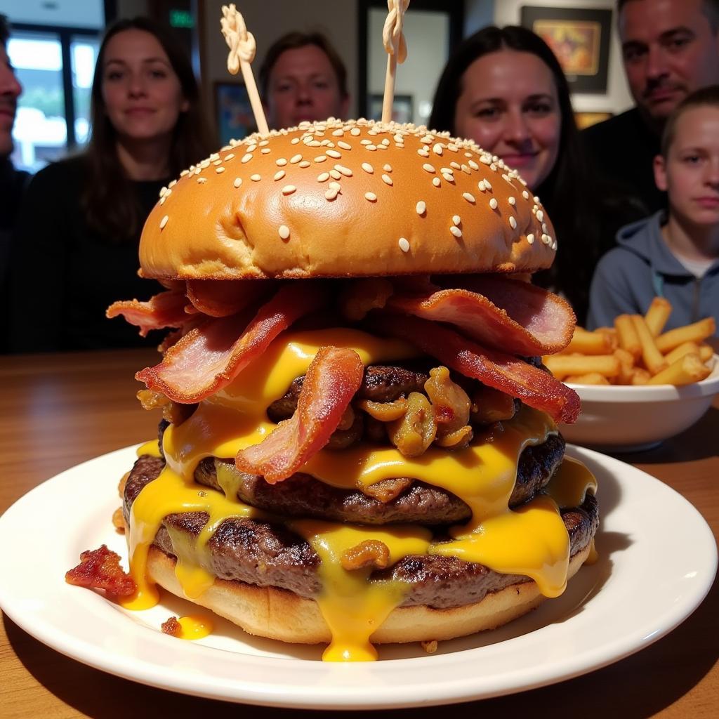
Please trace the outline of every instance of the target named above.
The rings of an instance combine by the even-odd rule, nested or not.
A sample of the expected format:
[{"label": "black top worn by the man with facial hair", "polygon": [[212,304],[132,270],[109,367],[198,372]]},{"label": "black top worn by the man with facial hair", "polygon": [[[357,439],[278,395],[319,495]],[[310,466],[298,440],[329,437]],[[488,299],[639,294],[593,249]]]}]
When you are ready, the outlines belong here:
[{"label": "black top worn by the man with facial hair", "polygon": [[646,214],[667,208],[667,193],[654,183],[659,137],[633,108],[582,130],[587,157],[600,178],[616,191],[639,201]]}]

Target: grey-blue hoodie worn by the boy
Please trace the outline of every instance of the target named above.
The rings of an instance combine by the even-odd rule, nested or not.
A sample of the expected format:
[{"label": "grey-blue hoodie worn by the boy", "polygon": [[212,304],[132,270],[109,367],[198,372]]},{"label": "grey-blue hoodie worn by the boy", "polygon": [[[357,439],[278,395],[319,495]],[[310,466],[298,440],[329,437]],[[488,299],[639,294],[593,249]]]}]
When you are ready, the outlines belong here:
[{"label": "grey-blue hoodie worn by the boy", "polygon": [[719,324],[719,260],[696,278],[661,237],[664,213],[628,224],[599,262],[590,289],[587,327],[612,326],[623,313],[644,314],[652,298],[665,297],[672,314],[665,329],[712,316]]}]

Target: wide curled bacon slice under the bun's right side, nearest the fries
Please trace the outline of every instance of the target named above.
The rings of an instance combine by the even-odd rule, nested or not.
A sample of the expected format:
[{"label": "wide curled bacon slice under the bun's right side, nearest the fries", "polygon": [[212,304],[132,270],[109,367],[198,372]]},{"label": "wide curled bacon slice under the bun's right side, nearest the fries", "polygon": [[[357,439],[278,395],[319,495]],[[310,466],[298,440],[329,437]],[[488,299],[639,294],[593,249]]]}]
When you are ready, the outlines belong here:
[{"label": "wide curled bacon slice under the bun's right side, nearest the fries", "polygon": [[395,294],[388,306],[449,322],[482,344],[528,356],[567,347],[575,320],[569,303],[554,293],[492,275],[452,278],[452,289],[434,293]]}]

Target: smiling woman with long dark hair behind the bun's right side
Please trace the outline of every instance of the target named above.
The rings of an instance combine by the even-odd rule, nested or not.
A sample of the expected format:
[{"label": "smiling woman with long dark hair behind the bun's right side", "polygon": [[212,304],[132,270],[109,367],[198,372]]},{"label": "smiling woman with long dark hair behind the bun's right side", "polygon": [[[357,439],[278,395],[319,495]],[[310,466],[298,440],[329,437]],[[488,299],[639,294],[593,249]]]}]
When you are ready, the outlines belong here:
[{"label": "smiling woman with long dark hair behind the bun's right side", "polygon": [[[563,294],[585,320],[589,285],[614,202],[599,191],[585,166],[569,86],[554,53],[523,27],[485,27],[454,51],[439,79],[430,126],[475,140],[518,170],[539,196],[557,234],[557,258],[534,282]],[[623,222],[641,216],[624,208]]]}]

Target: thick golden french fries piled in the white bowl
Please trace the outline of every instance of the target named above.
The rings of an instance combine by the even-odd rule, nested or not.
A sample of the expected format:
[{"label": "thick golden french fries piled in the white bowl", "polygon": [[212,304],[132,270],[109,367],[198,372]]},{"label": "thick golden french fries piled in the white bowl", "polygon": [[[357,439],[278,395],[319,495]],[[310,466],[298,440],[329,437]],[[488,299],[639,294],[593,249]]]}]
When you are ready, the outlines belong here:
[{"label": "thick golden french fries piled in the white bowl", "polygon": [[613,327],[577,326],[567,347],[543,357],[559,380],[584,385],[687,385],[710,375],[716,331],[711,317],[664,332],[672,305],[655,297],[642,315],[619,315]]}]

